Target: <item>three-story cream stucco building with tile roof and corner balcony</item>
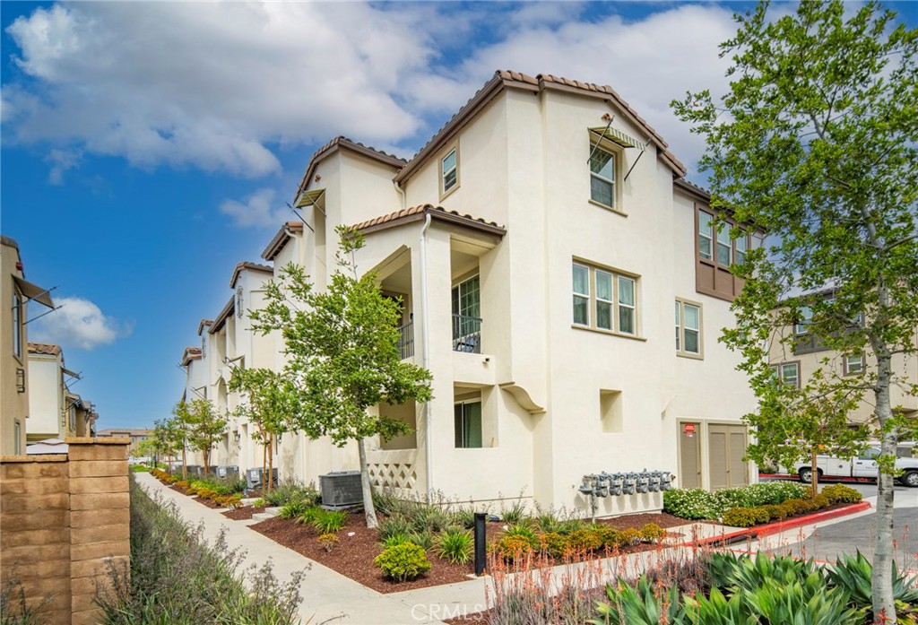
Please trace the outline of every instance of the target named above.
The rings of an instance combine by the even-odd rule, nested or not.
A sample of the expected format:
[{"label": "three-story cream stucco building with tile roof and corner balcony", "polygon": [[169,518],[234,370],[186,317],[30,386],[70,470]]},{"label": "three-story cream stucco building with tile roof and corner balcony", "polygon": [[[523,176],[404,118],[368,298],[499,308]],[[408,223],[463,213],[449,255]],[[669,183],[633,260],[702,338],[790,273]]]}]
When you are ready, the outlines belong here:
[{"label": "three-story cream stucco building with tile roof and corner balcony", "polygon": [[[610,87],[508,72],[409,162],[341,137],[316,152],[294,200],[303,222],[263,258],[322,289],[334,229],[356,226],[359,271],[400,298],[403,356],[433,374],[429,404],[378,408],[414,431],[370,444],[377,485],[586,512],[586,474],[755,480],[741,418],[756,401],[717,338],[742,288],[729,265],[759,240],[718,237],[684,174]],[[278,370],[282,349],[275,338]],[[285,435],[281,478],[316,481],[356,456]],[[599,514],[661,506],[607,497]]]}]

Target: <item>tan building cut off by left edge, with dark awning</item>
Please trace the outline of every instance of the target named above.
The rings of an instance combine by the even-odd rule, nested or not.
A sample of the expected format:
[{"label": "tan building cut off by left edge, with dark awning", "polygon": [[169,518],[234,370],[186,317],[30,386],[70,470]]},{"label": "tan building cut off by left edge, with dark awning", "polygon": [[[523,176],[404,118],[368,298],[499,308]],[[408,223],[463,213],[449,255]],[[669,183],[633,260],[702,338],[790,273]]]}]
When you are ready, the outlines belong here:
[{"label": "tan building cut off by left edge, with dark awning", "polygon": [[0,301],[0,454],[17,455],[26,452],[28,429],[28,302],[54,303],[48,289],[26,281],[19,246],[6,235],[0,235]]}]

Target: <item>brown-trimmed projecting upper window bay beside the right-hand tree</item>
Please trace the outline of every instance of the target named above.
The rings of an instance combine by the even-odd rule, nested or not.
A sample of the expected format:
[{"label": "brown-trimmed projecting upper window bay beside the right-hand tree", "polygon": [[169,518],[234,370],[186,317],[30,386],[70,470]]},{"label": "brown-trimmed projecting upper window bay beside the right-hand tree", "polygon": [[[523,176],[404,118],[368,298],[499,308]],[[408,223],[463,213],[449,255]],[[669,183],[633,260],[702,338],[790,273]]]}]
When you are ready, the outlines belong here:
[{"label": "brown-trimmed projecting upper window bay beside the right-hand tree", "polygon": [[743,290],[743,281],[730,273],[730,266],[744,262],[746,252],[760,246],[762,237],[746,232],[732,239],[730,230],[736,224],[726,219],[715,228],[714,220],[714,211],[709,206],[695,205],[695,290],[733,301]]}]

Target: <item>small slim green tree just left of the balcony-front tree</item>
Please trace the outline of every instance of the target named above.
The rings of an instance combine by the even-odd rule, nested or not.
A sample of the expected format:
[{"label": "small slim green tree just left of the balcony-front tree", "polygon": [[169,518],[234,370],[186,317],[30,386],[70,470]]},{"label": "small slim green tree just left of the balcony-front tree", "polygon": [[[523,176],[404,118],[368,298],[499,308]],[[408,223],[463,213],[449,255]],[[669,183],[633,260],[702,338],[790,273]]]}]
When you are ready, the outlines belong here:
[{"label": "small slim green tree just left of the balcony-front tree", "polygon": [[229,390],[238,391],[247,402],[236,409],[236,416],[252,423],[252,438],[262,443],[262,469],[265,489],[271,490],[274,472],[274,440],[287,431],[287,423],[296,411],[293,384],[270,369],[235,367],[229,378]]}]

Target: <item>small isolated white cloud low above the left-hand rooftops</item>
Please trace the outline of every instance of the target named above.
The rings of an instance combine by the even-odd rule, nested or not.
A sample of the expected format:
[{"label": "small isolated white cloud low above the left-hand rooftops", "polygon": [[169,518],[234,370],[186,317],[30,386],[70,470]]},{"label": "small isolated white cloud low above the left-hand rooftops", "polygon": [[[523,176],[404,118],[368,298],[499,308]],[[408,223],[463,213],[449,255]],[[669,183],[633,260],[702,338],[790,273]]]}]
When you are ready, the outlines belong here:
[{"label": "small isolated white cloud low above the left-hand rooftops", "polygon": [[55,297],[54,303],[62,307],[37,319],[29,340],[56,343],[65,349],[92,350],[99,345],[110,345],[133,331],[129,324],[103,315],[102,310],[88,299]]}]

